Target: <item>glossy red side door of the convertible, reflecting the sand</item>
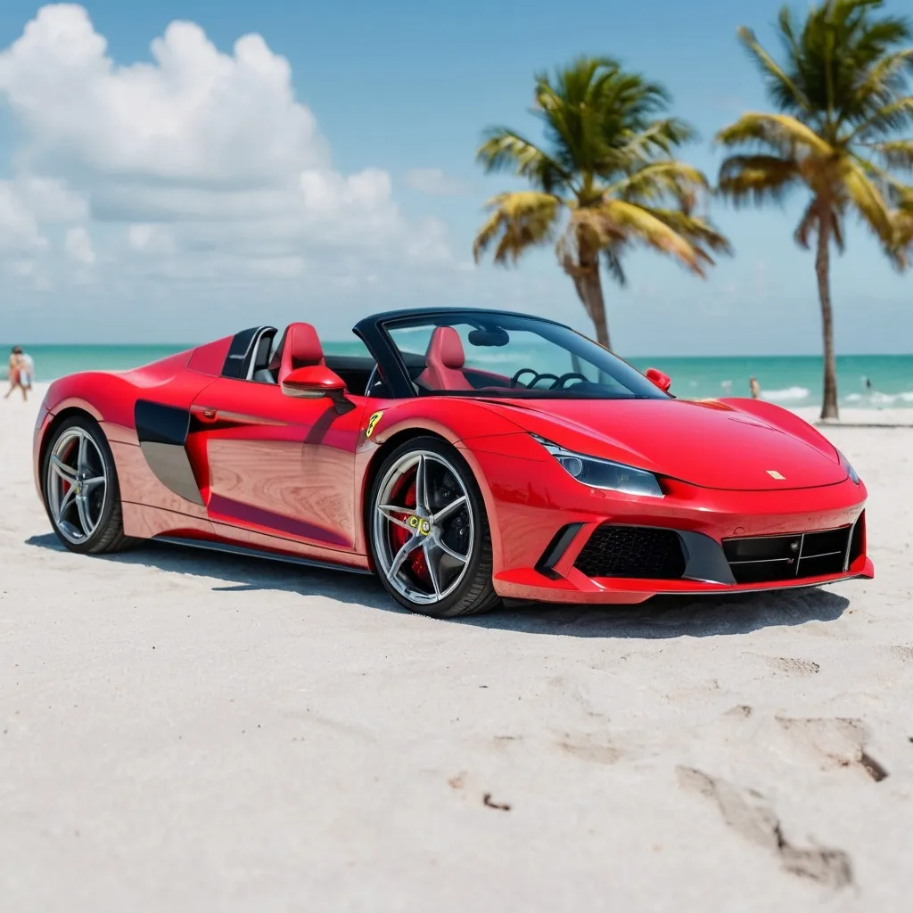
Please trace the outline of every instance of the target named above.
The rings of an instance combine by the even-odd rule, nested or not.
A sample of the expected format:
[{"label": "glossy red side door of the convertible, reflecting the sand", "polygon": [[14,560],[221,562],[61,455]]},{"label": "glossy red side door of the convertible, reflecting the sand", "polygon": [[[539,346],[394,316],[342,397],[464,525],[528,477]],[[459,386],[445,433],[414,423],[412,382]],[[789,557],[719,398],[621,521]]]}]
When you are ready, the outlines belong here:
[{"label": "glossy red side door of the convertible, reflecting the sand", "polygon": [[224,377],[206,387],[191,407],[188,452],[216,530],[257,544],[260,536],[240,533],[352,551],[355,448],[367,404],[350,402],[340,414],[327,397],[288,396],[276,384]]}]

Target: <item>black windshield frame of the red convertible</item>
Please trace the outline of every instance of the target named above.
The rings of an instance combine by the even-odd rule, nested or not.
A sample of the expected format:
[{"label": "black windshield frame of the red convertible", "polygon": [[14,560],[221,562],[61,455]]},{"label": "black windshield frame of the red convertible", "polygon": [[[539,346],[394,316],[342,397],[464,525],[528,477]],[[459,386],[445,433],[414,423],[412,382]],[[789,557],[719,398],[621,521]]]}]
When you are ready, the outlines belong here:
[{"label": "black windshield frame of the red convertible", "polygon": [[[606,373],[614,377],[614,371],[611,368],[621,368],[621,374],[627,374],[629,378],[636,378],[636,387],[639,390],[632,390],[630,396],[606,396],[604,394],[586,394],[574,393],[573,390],[554,391],[554,390],[533,390],[528,388],[488,388],[487,390],[434,390],[422,391],[415,386],[409,369],[403,358],[403,353],[391,335],[391,330],[406,329],[409,327],[420,327],[424,325],[459,325],[471,324],[485,327],[492,323],[498,324],[499,320],[507,322],[519,321],[526,324],[537,324],[539,326],[551,326],[560,333],[570,334],[572,339],[579,341],[582,352],[581,357],[599,367],[599,362],[606,362],[610,367],[606,368]],[[510,328],[508,328],[510,329]],[[519,329],[519,328],[515,328]],[[529,330],[529,328],[523,328]],[[491,398],[510,398],[510,399],[561,399],[561,400],[601,400],[601,401],[619,401],[631,399],[674,399],[672,394],[668,394],[659,389],[655,383],[645,377],[632,364],[624,361],[614,352],[601,346],[598,342],[585,336],[583,333],[574,330],[572,327],[559,322],[550,320],[546,317],[538,317],[532,314],[523,314],[517,311],[509,310],[491,310],[487,308],[434,308],[434,309],[409,309],[386,311],[374,314],[371,317],[360,320],[352,331],[358,336],[372,353],[375,361],[385,378],[390,389],[391,399],[417,399],[423,396],[452,396],[461,399],[491,399]],[[559,342],[549,340],[548,336],[543,339],[553,342],[555,345],[561,345]],[[571,349],[567,350],[572,352]],[[618,381],[623,386],[627,384]],[[628,387],[628,389],[631,389]]]}]

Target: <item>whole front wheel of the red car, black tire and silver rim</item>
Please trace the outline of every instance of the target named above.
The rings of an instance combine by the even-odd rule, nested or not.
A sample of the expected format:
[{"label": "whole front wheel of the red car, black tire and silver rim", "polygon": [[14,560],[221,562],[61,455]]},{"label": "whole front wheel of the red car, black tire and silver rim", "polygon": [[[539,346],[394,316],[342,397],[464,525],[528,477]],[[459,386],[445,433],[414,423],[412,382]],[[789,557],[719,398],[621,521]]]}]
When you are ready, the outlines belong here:
[{"label": "whole front wheel of the red car, black tire and silver rim", "polygon": [[436,437],[397,447],[377,474],[370,506],[374,565],[398,603],[436,618],[498,603],[485,506],[453,447]]}]

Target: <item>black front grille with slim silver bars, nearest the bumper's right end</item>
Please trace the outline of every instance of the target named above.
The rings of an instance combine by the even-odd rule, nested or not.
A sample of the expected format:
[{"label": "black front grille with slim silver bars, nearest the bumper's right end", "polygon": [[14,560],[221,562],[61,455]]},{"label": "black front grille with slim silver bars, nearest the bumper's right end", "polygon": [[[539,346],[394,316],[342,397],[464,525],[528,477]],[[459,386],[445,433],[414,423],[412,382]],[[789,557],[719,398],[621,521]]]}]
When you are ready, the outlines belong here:
[{"label": "black front grille with slim silver bars, nearest the bumper's right end", "polygon": [[723,553],[737,583],[820,577],[844,570],[852,531],[844,526],[789,536],[724,539]]}]

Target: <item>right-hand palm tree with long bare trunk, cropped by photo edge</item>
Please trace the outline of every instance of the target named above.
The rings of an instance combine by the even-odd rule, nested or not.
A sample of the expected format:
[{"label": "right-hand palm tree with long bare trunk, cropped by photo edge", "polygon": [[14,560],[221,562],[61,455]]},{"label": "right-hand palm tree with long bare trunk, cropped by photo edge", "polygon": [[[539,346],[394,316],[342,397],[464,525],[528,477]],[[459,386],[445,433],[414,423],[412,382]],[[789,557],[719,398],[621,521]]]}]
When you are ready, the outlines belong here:
[{"label": "right-hand palm tree with long bare trunk, cropped by photo edge", "polygon": [[801,29],[782,7],[778,62],[744,26],[739,39],[761,69],[777,113],[743,114],[719,131],[736,152],[719,169],[719,192],[735,205],[779,203],[803,188],[810,196],[795,231],[806,249],[815,238],[815,273],[824,335],[821,417],[837,418],[831,243],[844,249],[847,215],[874,233],[897,268],[905,266],[897,173],[913,169],[913,141],[892,139],[913,122],[907,74],[913,70],[906,20],[879,15],[882,0],[824,0]]}]

